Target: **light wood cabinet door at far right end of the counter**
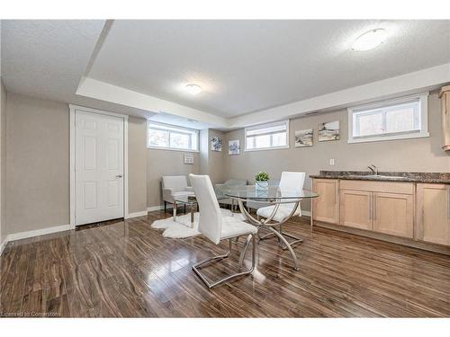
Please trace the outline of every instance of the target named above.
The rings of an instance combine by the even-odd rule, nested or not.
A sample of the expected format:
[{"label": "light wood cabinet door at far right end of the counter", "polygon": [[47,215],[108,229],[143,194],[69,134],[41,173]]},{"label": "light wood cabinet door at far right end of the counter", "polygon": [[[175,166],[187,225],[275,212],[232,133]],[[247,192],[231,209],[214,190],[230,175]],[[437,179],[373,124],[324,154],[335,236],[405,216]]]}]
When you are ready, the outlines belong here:
[{"label": "light wood cabinet door at far right end of the counter", "polygon": [[450,185],[418,183],[416,238],[450,245]]}]

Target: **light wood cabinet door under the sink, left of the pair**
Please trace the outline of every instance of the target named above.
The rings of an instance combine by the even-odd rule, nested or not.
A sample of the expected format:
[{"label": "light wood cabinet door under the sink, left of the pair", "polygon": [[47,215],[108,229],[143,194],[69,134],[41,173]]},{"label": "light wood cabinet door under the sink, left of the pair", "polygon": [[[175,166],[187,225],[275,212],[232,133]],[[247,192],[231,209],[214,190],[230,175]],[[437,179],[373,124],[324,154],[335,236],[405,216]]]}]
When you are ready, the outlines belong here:
[{"label": "light wood cabinet door under the sink, left of the pair", "polygon": [[340,225],[372,229],[372,192],[340,191]]}]

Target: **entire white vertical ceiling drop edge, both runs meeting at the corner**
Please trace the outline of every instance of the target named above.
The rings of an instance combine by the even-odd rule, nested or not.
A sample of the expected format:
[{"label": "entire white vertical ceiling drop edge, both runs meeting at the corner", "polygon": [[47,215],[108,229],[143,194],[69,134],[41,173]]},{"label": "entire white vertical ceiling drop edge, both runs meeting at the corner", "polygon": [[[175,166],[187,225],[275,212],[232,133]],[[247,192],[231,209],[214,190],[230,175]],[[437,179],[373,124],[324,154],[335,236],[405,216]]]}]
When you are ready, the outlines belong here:
[{"label": "entire white vertical ceiling drop edge, both runs meeting at the corner", "polygon": [[83,77],[76,94],[127,105],[144,111],[165,112],[188,120],[206,123],[211,125],[213,129],[227,130],[246,128],[275,120],[293,119],[312,111],[332,111],[347,108],[353,104],[380,101],[402,94],[418,93],[423,90],[433,90],[449,82],[450,63],[446,63],[441,66],[430,67],[410,74],[399,75],[230,119],[89,77]]}]

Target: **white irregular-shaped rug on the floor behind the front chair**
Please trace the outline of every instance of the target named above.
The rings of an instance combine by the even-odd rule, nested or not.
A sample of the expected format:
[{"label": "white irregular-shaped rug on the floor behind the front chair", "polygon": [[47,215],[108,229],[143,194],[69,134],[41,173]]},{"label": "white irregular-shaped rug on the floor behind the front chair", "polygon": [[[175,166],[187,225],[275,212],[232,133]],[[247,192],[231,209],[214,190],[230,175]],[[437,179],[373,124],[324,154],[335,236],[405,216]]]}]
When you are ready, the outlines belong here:
[{"label": "white irregular-shaped rug on the floor behind the front chair", "polygon": [[[220,209],[222,217],[238,217],[243,220],[244,217],[240,213],[231,213],[228,209]],[[191,215],[185,214],[183,216],[177,216],[176,221],[174,217],[168,217],[162,220],[156,220],[151,224],[152,228],[165,229],[163,232],[164,237],[170,237],[173,239],[184,239],[185,237],[191,237],[200,235],[197,231],[198,228],[199,213],[193,214],[193,228],[191,228]]]}]

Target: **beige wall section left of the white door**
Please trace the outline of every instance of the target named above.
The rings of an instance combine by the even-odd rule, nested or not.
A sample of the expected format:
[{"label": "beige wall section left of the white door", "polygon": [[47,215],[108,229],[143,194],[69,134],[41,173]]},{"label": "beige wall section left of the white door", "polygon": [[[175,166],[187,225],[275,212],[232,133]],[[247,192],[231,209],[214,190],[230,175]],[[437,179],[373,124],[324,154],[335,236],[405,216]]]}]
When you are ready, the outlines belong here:
[{"label": "beige wall section left of the white door", "polygon": [[8,234],[69,223],[67,104],[8,93]]}]

